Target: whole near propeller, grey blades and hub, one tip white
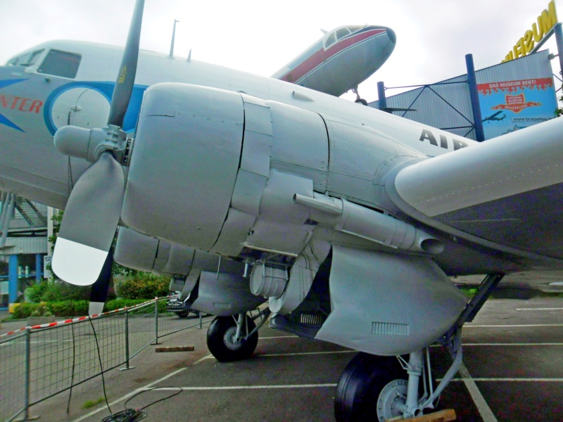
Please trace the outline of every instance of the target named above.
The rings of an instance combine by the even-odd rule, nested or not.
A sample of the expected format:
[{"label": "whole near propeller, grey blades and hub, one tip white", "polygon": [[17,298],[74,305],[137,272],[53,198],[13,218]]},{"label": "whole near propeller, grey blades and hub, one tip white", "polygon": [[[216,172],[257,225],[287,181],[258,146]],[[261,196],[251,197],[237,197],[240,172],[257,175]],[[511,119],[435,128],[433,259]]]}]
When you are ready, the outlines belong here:
[{"label": "whole near propeller, grey blades and hub, one tip white", "polygon": [[91,130],[65,126],[54,137],[60,153],[93,163],[70,193],[53,252],[55,274],[79,286],[99,279],[119,223],[125,196],[121,161],[127,145],[127,135],[121,127],[137,72],[143,8],[144,0],[137,0],[111,99],[108,126]]}]

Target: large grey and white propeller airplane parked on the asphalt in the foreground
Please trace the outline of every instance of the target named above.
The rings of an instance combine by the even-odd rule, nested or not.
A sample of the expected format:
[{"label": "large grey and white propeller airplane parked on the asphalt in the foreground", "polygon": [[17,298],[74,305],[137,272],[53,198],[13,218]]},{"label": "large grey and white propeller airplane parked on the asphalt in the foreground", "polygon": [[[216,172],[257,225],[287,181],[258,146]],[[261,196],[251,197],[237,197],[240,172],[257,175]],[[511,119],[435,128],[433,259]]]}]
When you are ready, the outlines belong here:
[{"label": "large grey and white propeller airplane parked on the asphalt in the foreground", "polygon": [[[360,351],[336,420],[432,409],[464,322],[502,276],[562,265],[563,120],[476,143],[139,53],[142,8],[121,65],[120,49],[58,41],[0,68],[0,189],[65,209],[56,274],[103,279],[119,226],[117,262],[173,274],[172,290],[217,316],[218,360],[251,357],[247,312],[267,301],[272,327]],[[469,303],[448,277],[460,274],[487,274]],[[437,386],[436,342],[453,355]]]}]

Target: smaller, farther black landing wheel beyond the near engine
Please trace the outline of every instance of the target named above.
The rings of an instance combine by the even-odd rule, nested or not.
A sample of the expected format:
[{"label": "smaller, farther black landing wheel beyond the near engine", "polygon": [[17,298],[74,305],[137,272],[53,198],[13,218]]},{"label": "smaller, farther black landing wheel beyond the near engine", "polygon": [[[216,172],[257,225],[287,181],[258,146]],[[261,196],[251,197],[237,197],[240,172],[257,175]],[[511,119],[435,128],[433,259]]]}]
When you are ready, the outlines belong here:
[{"label": "smaller, farther black landing wheel beyond the near engine", "polygon": [[[258,331],[256,331],[250,338],[234,345],[228,342],[229,334],[236,333],[236,321],[233,316],[217,316],[207,331],[207,347],[211,354],[219,362],[234,362],[243,359],[248,359],[254,353],[256,345],[258,345]],[[255,328],[256,324],[249,317],[246,316],[246,325],[250,333]],[[238,347],[237,347],[238,346]]]}]

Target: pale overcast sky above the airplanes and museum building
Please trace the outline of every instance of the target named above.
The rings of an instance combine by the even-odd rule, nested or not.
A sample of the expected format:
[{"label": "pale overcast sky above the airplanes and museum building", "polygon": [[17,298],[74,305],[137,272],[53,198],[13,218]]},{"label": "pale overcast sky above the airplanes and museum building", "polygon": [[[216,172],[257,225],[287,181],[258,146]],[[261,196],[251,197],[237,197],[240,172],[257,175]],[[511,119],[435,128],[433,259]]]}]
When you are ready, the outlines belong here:
[{"label": "pale overcast sky above the airplanes and museum building", "polygon": [[[384,66],[360,85],[377,99],[386,87],[438,82],[462,75],[464,56],[476,69],[500,63],[531,29],[549,0],[146,0],[141,48],[272,75],[322,36],[320,28],[385,25],[397,46]],[[556,0],[559,21],[563,0]],[[0,63],[50,39],[123,45],[134,0],[0,0]],[[555,37],[546,44],[557,52]],[[552,60],[559,72],[558,60]],[[555,69],[555,66],[557,68]],[[559,82],[556,81],[559,86]],[[390,91],[388,95],[394,94]]]}]

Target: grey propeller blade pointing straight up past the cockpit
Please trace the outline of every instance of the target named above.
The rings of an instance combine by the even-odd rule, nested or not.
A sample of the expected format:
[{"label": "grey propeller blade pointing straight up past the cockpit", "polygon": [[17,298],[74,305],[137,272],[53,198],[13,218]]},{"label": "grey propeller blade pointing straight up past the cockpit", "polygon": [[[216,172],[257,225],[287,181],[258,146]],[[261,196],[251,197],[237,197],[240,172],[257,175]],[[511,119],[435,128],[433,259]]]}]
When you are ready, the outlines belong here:
[{"label": "grey propeller blade pointing straight up past the cockpit", "polygon": [[137,73],[144,3],[144,0],[137,0],[135,4],[131,25],[129,26],[129,34],[127,35],[127,44],[125,44],[125,51],[121,60],[120,73],[115,81],[115,89],[111,98],[108,124],[114,124],[118,127],[123,126],[123,118],[125,117],[127,106],[129,106],[129,98],[131,98],[135,74]]}]

